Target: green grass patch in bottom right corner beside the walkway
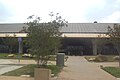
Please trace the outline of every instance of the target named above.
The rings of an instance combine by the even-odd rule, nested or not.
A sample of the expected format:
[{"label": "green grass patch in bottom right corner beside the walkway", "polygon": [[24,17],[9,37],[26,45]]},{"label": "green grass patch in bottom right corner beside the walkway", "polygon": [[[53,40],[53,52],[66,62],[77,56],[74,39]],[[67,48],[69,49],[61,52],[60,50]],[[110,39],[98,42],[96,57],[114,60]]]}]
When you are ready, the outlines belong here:
[{"label": "green grass patch in bottom right corner beside the walkway", "polygon": [[111,75],[120,78],[120,68],[118,67],[103,67],[103,70],[110,73]]}]

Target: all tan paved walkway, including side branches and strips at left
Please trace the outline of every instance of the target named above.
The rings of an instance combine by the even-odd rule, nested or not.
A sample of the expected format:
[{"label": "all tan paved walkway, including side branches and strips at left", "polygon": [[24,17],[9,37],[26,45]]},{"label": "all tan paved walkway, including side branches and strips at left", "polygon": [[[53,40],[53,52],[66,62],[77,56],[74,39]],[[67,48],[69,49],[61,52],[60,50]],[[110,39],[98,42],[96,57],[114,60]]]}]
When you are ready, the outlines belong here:
[{"label": "all tan paved walkway, including side branches and strips at left", "polygon": [[[2,64],[18,64],[17,60],[6,60],[0,61]],[[36,63],[33,60],[22,60],[21,64]],[[87,62],[84,57],[81,56],[70,56],[66,62],[66,67],[59,74],[58,78],[52,80],[117,80],[107,72],[100,69],[100,65],[113,65],[116,66],[118,63],[91,63]],[[2,66],[1,66],[2,67]],[[4,67],[4,65],[3,65]],[[1,71],[1,70],[0,70]],[[34,80],[34,78],[27,77],[15,77],[15,76],[0,76],[0,80]]]}]

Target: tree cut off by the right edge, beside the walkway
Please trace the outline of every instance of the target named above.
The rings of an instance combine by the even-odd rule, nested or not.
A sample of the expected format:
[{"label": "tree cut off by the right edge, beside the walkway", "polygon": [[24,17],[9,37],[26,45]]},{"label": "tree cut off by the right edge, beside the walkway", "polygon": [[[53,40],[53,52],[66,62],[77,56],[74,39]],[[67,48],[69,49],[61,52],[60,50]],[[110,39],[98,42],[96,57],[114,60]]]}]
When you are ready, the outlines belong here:
[{"label": "tree cut off by the right edge, beside the walkway", "polygon": [[113,27],[108,26],[108,34],[110,40],[115,45],[117,52],[119,53],[119,67],[120,67],[120,25],[114,24]]}]

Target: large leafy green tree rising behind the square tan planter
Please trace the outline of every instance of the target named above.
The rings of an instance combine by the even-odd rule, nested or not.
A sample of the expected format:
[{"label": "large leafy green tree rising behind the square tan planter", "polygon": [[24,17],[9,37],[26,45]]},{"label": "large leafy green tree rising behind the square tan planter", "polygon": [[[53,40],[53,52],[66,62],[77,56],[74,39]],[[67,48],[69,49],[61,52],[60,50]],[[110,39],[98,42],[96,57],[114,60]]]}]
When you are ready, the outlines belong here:
[{"label": "large leafy green tree rising behind the square tan planter", "polygon": [[[53,16],[53,15],[52,15]],[[29,16],[32,21],[28,22],[28,41],[31,46],[31,53],[35,55],[38,67],[46,65],[52,54],[55,54],[60,47],[61,32],[59,29],[66,25],[61,16],[47,23],[40,23],[40,17]]]}]

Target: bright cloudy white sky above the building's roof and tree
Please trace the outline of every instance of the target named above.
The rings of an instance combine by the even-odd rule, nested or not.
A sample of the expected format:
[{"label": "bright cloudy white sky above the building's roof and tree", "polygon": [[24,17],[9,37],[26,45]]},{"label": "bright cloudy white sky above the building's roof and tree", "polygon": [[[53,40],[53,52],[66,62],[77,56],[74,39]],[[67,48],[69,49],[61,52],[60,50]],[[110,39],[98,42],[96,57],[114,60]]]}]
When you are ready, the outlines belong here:
[{"label": "bright cloudy white sky above the building's roof and tree", "polygon": [[69,23],[120,23],[120,0],[0,0],[0,23],[24,23],[30,15],[48,22],[50,12]]}]

